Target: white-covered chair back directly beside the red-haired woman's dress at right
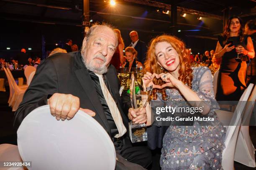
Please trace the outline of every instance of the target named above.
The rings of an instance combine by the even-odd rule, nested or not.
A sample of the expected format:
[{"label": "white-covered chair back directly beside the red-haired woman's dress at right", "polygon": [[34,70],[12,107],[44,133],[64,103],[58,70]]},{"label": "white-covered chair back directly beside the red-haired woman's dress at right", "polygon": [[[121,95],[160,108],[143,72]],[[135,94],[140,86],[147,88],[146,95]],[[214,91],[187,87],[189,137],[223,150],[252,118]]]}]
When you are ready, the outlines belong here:
[{"label": "white-covered chair back directly beside the red-haired woman's dress at right", "polygon": [[[243,92],[238,105],[236,106],[236,110],[233,114],[233,117],[230,121],[230,126],[227,128],[227,132],[225,135],[225,149],[222,153],[222,166],[224,170],[233,170],[234,168],[234,155],[236,148],[236,141],[238,138],[238,131],[241,125],[241,117],[243,116],[244,108],[246,106],[247,101],[251,90],[253,88],[253,84],[250,84],[246,90]],[[217,113],[217,112],[216,112]],[[218,115],[218,114],[217,114]]]}]

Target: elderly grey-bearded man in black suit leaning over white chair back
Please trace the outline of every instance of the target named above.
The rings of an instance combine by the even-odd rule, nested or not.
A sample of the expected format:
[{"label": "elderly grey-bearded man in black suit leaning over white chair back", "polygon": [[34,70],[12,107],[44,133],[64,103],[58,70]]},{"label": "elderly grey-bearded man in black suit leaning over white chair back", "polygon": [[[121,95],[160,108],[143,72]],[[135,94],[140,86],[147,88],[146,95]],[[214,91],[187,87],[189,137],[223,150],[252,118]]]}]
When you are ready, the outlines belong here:
[{"label": "elderly grey-bearded man in black suit leaning over white chair back", "polygon": [[[15,128],[33,109],[46,105],[52,95],[48,104],[56,121],[68,121],[81,109],[102,125],[115,145],[116,169],[146,168],[151,153],[146,147],[133,147],[128,138],[123,107],[129,105],[130,99],[126,93],[120,97],[117,72],[110,65],[117,45],[112,28],[94,25],[84,38],[81,52],[58,53],[43,60],[15,113]],[[135,121],[146,122],[145,113],[138,112]]]}]

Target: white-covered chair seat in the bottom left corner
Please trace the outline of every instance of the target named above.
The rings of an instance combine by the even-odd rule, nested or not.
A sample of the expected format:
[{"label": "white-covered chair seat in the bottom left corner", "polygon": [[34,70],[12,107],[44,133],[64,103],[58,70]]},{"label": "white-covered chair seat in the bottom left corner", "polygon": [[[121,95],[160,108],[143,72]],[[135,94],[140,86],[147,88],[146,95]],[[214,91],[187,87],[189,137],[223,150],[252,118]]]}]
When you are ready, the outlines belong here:
[{"label": "white-covered chair seat in the bottom left corner", "polygon": [[[22,162],[17,145],[1,144],[0,145],[0,162]],[[3,168],[1,170],[24,170],[24,168]]]}]

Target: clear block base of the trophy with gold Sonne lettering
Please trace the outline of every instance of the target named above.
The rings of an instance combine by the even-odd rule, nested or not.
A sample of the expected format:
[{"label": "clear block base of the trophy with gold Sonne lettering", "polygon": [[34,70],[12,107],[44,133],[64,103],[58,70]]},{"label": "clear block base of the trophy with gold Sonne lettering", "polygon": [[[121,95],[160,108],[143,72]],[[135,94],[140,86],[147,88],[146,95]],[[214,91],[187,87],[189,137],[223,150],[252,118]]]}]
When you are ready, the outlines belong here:
[{"label": "clear block base of the trophy with gold Sonne lettering", "polygon": [[131,122],[129,122],[129,135],[132,143],[147,141],[148,133],[146,124],[132,125]]}]

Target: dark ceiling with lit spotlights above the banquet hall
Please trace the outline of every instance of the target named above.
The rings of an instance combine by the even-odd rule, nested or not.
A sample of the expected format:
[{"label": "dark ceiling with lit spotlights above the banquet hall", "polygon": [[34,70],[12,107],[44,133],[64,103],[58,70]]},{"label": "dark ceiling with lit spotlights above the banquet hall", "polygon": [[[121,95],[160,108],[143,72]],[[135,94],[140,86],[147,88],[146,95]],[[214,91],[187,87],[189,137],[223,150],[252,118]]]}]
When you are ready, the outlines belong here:
[{"label": "dark ceiling with lit spotlights above the banquet hall", "polygon": [[[90,0],[90,18],[94,21],[112,23],[120,29],[139,29],[141,31],[165,32],[171,26],[170,14],[161,13],[163,8],[176,3],[179,9],[196,10],[208,14],[203,22],[197,20],[199,15],[186,18],[178,10],[177,23],[181,30],[211,30],[218,28],[206,23],[222,23],[223,10],[230,7],[230,15],[255,18],[256,0],[116,0],[117,5],[110,7],[108,1]],[[159,5],[160,4],[160,5]],[[0,0],[0,17],[5,20],[23,20],[48,24],[81,25],[82,0]],[[160,9],[160,12],[156,12]],[[210,15],[219,17],[216,19]],[[208,20],[208,21],[206,21]],[[209,28],[211,27],[211,28]]]}]

